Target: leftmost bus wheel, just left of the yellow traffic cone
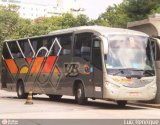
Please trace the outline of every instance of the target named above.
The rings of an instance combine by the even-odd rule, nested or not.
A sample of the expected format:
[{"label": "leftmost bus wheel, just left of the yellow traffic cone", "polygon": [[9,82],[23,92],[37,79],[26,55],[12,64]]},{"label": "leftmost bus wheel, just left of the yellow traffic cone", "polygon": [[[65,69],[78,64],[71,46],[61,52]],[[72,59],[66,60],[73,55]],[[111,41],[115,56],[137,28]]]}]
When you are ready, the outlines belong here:
[{"label": "leftmost bus wheel, just left of the yellow traffic cone", "polygon": [[27,94],[25,93],[24,84],[22,81],[17,83],[17,96],[19,99],[27,98]]}]

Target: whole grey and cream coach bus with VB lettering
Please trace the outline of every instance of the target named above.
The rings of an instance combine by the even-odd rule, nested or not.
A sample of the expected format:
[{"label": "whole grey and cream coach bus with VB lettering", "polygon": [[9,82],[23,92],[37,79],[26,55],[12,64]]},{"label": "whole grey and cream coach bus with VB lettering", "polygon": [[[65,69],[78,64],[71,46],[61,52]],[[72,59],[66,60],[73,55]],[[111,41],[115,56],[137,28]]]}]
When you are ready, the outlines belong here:
[{"label": "whole grey and cream coach bus with VB lettering", "polygon": [[156,72],[148,35],[121,28],[81,26],[3,43],[2,88],[117,102],[155,98]]}]

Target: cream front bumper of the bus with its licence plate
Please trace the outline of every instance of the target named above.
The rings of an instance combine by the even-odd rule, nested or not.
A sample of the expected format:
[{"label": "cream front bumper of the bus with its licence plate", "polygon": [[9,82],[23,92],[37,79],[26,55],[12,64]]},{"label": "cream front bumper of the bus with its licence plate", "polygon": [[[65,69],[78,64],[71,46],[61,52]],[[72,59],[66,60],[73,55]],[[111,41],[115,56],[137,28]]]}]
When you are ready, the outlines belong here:
[{"label": "cream front bumper of the bus with its licence plate", "polygon": [[104,99],[111,100],[152,100],[156,96],[156,84],[149,84],[140,88],[129,88],[106,84],[103,93]]}]

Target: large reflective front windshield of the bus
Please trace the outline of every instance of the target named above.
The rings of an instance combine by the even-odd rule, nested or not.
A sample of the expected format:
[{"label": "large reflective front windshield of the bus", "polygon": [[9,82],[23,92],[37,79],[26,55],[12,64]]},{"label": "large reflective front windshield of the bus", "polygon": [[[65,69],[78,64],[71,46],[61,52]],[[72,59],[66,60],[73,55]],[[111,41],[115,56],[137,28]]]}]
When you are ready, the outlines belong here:
[{"label": "large reflective front windshield of the bus", "polygon": [[148,37],[110,35],[108,41],[107,69],[154,70]]}]

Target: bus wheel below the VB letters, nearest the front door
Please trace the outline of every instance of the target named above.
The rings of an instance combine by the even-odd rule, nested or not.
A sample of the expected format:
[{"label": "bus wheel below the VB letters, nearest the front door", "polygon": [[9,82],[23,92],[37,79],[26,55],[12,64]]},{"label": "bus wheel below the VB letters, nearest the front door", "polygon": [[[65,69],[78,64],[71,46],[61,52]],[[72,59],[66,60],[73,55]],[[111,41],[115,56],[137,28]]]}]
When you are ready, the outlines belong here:
[{"label": "bus wheel below the VB letters, nearest the front door", "polygon": [[85,97],[84,87],[82,84],[78,84],[76,88],[75,100],[80,105],[84,105],[87,102],[87,98]]}]

